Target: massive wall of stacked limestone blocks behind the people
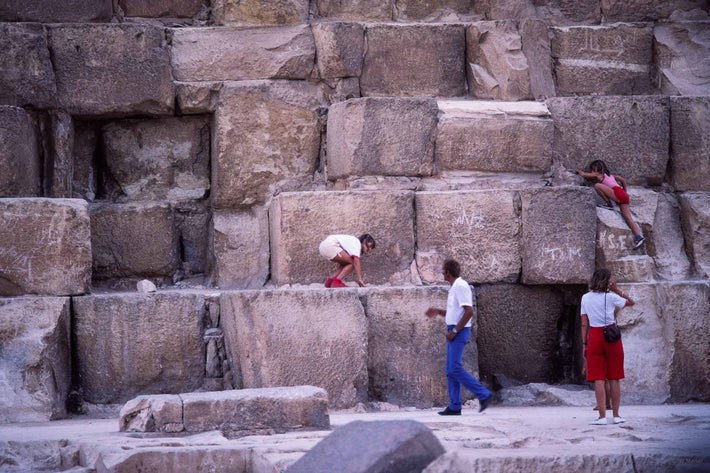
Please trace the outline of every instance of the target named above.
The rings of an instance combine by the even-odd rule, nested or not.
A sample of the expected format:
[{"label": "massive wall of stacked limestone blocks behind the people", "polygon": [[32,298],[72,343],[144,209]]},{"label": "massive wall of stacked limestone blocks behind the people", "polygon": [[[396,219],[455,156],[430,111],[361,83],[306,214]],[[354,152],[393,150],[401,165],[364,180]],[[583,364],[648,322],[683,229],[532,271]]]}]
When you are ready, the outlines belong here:
[{"label": "massive wall of stacked limestone blocks behind the people", "polygon": [[[449,257],[487,382],[580,382],[578,299],[606,266],[643,308],[620,315],[625,399],[709,400],[708,10],[3,2],[0,342],[22,354],[0,364],[29,374],[0,420],[304,384],[441,404],[423,311]],[[571,172],[594,159],[632,186],[639,252]],[[334,232],[374,235],[376,287],[316,289]]]}]

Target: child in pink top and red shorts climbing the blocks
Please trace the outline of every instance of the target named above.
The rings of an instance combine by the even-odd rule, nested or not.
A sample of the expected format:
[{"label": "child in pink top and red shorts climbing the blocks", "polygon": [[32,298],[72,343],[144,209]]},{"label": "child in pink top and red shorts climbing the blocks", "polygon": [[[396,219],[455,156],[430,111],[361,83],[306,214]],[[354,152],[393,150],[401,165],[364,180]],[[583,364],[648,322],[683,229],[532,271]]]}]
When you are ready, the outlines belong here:
[{"label": "child in pink top and red shorts climbing the blocks", "polygon": [[[606,163],[600,159],[592,161],[589,164],[589,172],[577,170],[577,174],[585,179],[597,181],[596,184],[594,184],[594,190],[604,199],[604,203],[599,204],[599,207],[613,210],[613,202],[619,205],[621,216],[624,217],[626,224],[634,233],[634,250],[641,248],[646,242],[646,239],[641,235],[641,230],[631,217],[629,194],[626,193],[626,180],[621,176],[612,175]],[[619,182],[621,185],[619,185]]]}]

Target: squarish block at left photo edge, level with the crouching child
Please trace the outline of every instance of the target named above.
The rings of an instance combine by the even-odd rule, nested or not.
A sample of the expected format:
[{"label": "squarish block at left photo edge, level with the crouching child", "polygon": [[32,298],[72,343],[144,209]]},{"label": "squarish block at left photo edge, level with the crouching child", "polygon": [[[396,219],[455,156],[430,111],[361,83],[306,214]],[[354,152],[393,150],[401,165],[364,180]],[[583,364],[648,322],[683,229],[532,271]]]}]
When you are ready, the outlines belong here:
[{"label": "squarish block at left photo edge, level with the crouching child", "polygon": [[89,209],[78,199],[0,199],[0,296],[89,289]]}]

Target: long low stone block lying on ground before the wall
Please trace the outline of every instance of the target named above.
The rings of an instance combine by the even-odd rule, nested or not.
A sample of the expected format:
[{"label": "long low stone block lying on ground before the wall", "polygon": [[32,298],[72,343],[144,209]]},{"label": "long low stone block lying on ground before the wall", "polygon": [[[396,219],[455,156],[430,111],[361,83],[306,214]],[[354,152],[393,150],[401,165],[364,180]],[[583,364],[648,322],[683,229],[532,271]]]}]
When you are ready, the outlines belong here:
[{"label": "long low stone block lying on ground before the wall", "polygon": [[327,430],[328,393],[313,386],[138,396],[121,409],[121,432],[199,433],[229,438]]}]

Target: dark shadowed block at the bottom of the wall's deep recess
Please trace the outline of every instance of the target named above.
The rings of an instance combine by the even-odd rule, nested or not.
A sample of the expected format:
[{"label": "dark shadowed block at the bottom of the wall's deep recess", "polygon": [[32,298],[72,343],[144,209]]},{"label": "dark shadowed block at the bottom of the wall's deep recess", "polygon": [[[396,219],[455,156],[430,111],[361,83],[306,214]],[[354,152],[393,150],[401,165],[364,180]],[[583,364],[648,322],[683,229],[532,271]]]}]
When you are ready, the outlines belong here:
[{"label": "dark shadowed block at the bottom of the wall's deep recess", "polygon": [[179,264],[175,217],[168,204],[93,204],[94,277],[171,276]]}]

